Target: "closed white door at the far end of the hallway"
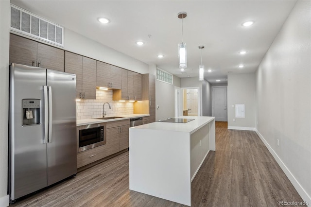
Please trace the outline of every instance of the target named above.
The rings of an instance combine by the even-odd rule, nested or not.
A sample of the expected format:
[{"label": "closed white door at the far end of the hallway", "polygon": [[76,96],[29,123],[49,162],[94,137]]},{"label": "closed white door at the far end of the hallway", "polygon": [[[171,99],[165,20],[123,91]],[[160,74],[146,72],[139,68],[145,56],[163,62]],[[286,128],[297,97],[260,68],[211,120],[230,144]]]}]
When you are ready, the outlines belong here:
[{"label": "closed white door at the far end of the hallway", "polygon": [[227,87],[213,87],[212,116],[216,121],[227,121]]}]

